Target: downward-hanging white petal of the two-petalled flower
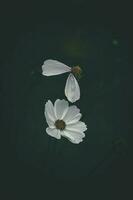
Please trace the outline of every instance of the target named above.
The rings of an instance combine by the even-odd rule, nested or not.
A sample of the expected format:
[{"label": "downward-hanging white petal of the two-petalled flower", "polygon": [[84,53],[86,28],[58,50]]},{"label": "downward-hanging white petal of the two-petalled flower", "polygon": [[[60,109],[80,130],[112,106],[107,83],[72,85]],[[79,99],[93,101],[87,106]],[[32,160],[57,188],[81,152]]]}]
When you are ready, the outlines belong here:
[{"label": "downward-hanging white petal of the two-petalled flower", "polygon": [[76,78],[72,73],[69,74],[66,86],[65,86],[65,95],[70,102],[75,102],[80,98],[80,88]]}]

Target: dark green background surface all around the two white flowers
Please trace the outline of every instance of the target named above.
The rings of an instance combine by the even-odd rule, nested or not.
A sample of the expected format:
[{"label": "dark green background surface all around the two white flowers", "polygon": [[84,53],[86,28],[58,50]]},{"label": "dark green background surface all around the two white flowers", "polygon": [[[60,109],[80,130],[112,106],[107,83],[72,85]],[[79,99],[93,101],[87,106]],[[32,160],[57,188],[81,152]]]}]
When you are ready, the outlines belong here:
[{"label": "dark green background surface all around the two white flowers", "polygon": [[[86,1],[4,5],[0,95],[5,194],[17,199],[119,199],[126,193],[129,8]],[[65,98],[67,78],[41,75],[48,58],[83,69],[76,105],[88,130],[79,145],[45,132],[45,102]]]}]

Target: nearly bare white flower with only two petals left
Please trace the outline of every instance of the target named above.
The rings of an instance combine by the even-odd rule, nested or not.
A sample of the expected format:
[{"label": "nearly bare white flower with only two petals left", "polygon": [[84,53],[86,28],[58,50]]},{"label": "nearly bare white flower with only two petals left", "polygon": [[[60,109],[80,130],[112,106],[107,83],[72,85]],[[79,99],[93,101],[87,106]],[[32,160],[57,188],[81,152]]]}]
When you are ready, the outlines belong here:
[{"label": "nearly bare white flower with only two petals left", "polygon": [[46,60],[42,65],[42,74],[44,76],[54,76],[58,74],[64,74],[69,72],[69,76],[66,81],[65,95],[70,102],[75,102],[80,99],[80,88],[75,76],[79,76],[81,68],[79,66],[68,67],[67,65],[57,60]]}]

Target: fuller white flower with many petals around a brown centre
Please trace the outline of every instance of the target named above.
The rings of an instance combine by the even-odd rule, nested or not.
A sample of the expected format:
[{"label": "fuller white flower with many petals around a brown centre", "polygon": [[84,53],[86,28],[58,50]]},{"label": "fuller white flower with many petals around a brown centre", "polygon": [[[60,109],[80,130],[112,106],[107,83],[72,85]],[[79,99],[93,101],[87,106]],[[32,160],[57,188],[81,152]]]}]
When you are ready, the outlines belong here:
[{"label": "fuller white flower with many petals around a brown centre", "polygon": [[85,137],[84,131],[87,130],[86,124],[79,121],[81,116],[77,106],[69,106],[64,99],[57,99],[54,105],[48,100],[45,104],[45,117],[49,126],[46,132],[56,139],[63,136],[70,142],[79,144]]}]

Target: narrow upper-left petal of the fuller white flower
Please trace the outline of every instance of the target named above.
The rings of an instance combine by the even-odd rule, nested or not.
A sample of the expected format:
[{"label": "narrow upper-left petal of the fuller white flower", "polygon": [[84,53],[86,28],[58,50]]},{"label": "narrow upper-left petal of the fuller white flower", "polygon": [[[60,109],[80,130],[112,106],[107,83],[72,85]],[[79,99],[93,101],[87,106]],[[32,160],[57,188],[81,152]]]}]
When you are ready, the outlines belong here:
[{"label": "narrow upper-left petal of the fuller white flower", "polygon": [[45,104],[45,112],[51,121],[55,122],[57,120],[54,112],[54,106],[50,100],[48,100]]}]

